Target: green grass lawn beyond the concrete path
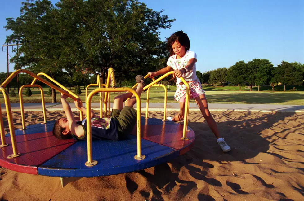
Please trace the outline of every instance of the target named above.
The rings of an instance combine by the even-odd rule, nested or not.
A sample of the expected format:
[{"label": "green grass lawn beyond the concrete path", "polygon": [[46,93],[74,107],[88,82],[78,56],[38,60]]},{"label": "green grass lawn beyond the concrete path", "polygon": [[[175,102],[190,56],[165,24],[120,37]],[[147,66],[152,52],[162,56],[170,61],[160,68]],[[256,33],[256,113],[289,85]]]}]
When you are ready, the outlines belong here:
[{"label": "green grass lawn beyond the concrete path", "polygon": [[[224,87],[212,87],[212,86],[203,86],[203,88],[206,91],[206,98],[208,103],[239,103],[239,104],[290,104],[290,105],[304,105],[304,91],[301,91],[304,87],[303,86],[297,86],[296,91],[290,90],[293,89],[293,87],[288,86],[287,90],[283,92],[282,86],[276,86],[275,92],[272,92],[271,87],[260,87],[260,90],[257,91],[257,87],[253,87],[253,91],[249,91],[248,87],[242,87],[242,90],[239,91],[238,86],[224,86]],[[297,90],[298,88],[298,90]],[[94,88],[90,88],[89,92],[92,91]],[[43,88],[44,95],[45,95],[45,102],[51,103],[52,98],[51,96],[47,95],[48,88]],[[85,100],[85,90],[82,87],[82,94],[80,95],[80,98]],[[172,86],[171,90],[168,91],[167,95],[167,102],[168,103],[177,103],[173,100],[174,93],[175,93],[176,87]],[[74,89],[72,90],[74,92]],[[163,103],[164,100],[164,93],[163,93],[162,87],[152,87],[150,89],[150,97],[149,102],[150,103]],[[32,90],[33,95],[31,97],[23,96],[24,103],[39,103],[41,102],[41,95],[40,90],[37,90],[35,88]],[[19,94],[17,91],[15,91],[16,97],[10,97],[11,103],[19,103]],[[113,101],[113,98],[118,95],[119,93],[111,93],[111,100]],[[141,96],[142,103],[145,103],[146,101],[146,92],[144,92]],[[57,102],[60,102],[60,93],[56,93],[57,96]],[[0,101],[1,103],[4,103],[3,94],[0,94]],[[73,102],[72,99],[68,99],[69,102]],[[95,95],[92,98],[92,102],[98,102],[99,101],[99,95]],[[111,102],[112,102],[111,101]],[[191,103],[194,103],[194,100],[190,100]]]}]

